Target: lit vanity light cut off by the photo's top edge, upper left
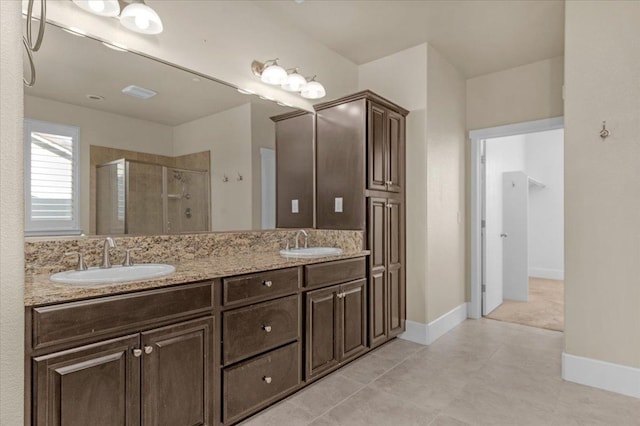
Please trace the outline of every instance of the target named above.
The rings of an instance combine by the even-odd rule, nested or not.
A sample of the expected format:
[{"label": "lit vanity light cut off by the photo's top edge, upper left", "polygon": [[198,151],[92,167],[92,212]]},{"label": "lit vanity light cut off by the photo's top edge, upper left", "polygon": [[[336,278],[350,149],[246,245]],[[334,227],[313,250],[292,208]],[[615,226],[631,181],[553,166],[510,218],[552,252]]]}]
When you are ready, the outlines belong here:
[{"label": "lit vanity light cut off by the photo's top edge, upper left", "polygon": [[[71,0],[81,9],[95,15],[120,17],[127,29],[141,34],[160,34],[163,30],[160,16],[144,0]],[[121,6],[122,12],[121,12]]]}]

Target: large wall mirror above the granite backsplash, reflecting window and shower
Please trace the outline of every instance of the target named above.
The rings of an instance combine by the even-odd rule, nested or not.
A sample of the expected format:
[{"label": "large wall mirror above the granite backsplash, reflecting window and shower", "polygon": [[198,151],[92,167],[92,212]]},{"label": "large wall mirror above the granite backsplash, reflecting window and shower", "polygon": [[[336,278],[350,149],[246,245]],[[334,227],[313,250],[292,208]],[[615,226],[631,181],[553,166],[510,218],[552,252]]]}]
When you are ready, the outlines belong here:
[{"label": "large wall mirror above the granite backsplash, reflecting window and shower", "polygon": [[275,226],[275,127],[257,96],[48,24],[25,88],[30,235]]}]

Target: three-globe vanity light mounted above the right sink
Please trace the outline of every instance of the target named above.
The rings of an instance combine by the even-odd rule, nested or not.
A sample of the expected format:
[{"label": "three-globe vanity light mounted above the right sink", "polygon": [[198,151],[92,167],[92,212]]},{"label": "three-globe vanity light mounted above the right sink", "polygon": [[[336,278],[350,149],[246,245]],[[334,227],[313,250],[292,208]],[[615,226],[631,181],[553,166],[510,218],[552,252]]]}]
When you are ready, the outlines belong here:
[{"label": "three-globe vanity light mounted above the right sink", "polygon": [[251,71],[256,77],[260,77],[263,83],[280,85],[288,92],[300,92],[303,98],[320,99],[326,95],[324,86],[315,80],[315,75],[307,79],[298,72],[298,68],[291,68],[291,72],[287,72],[278,65],[278,58],[264,62],[254,60],[251,62]]}]

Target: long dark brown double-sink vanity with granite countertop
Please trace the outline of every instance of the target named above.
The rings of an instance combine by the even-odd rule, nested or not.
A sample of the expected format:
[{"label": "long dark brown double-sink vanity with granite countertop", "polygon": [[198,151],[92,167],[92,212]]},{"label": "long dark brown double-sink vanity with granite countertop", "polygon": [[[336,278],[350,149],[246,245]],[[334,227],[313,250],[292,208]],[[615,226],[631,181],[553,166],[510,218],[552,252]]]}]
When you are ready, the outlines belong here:
[{"label": "long dark brown double-sink vanity with granite countertop", "polygon": [[[367,254],[201,259],[164,280],[63,292],[49,283],[52,303],[25,308],[32,424],[237,423],[369,350]],[[175,282],[190,274],[209,277]],[[42,302],[39,279],[27,291]]]}]

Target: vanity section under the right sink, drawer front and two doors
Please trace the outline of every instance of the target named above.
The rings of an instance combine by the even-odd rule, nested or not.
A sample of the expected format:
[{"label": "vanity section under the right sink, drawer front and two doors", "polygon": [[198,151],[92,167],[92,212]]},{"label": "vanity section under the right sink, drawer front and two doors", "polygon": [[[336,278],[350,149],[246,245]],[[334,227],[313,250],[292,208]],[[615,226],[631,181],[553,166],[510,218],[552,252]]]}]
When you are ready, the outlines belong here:
[{"label": "vanity section under the right sink, drawer front and two doors", "polygon": [[[364,259],[312,265],[306,269],[307,286],[325,285],[305,295],[305,379],[309,381],[367,350],[367,281]],[[329,273],[330,269],[349,271],[343,280],[357,279],[331,285],[336,275]],[[320,282],[321,276],[326,278],[324,283]]]}]

